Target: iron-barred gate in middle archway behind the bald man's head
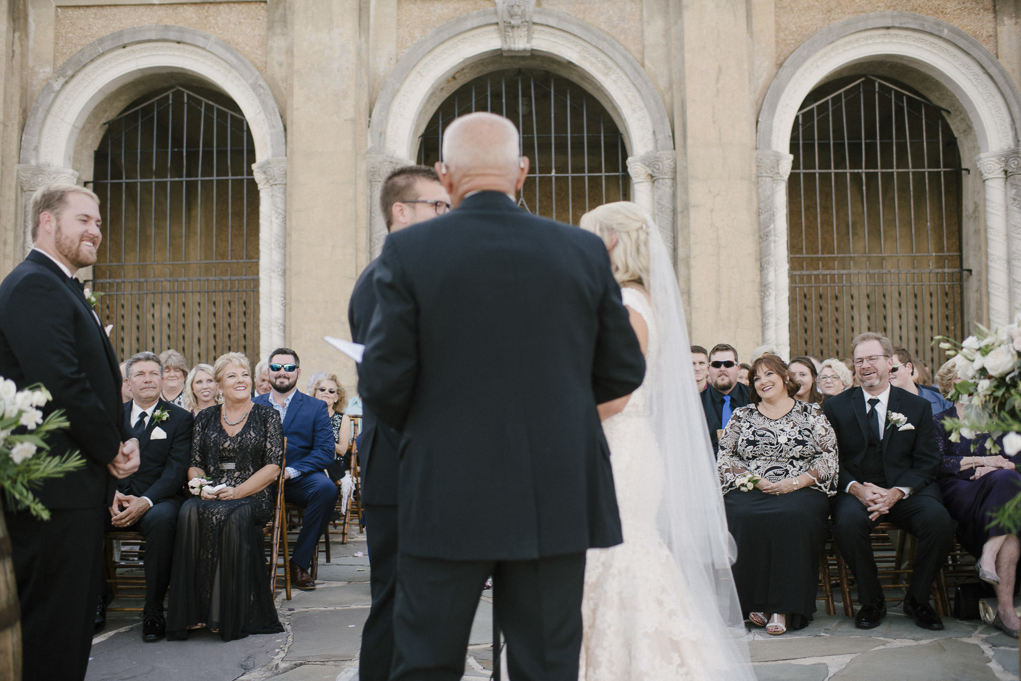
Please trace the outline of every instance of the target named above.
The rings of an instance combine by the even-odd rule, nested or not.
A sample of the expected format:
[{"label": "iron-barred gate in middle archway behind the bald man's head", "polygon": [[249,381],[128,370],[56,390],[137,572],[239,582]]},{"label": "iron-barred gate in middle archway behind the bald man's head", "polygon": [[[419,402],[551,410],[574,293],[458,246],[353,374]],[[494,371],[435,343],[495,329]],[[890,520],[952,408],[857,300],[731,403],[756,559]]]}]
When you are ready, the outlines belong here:
[{"label": "iron-barred gate in middle archway behind the bald man's head", "polygon": [[629,198],[624,137],[605,108],[578,85],[537,69],[494,71],[458,88],[426,126],[419,162],[439,160],[445,127],[476,110],[509,114],[518,126],[522,153],[531,156],[519,204],[532,212],[577,224],[596,205]]}]

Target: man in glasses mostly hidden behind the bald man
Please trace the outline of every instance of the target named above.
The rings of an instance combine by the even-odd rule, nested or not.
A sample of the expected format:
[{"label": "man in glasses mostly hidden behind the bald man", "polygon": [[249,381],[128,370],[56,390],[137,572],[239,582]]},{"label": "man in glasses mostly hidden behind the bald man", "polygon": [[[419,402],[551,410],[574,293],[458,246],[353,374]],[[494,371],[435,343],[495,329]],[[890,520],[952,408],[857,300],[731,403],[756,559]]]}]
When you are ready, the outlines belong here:
[{"label": "man in glasses mostly hidden behind the bald man", "polygon": [[[436,171],[425,165],[405,165],[391,173],[380,190],[380,209],[387,232],[425,222],[450,209],[450,195]],[[361,272],[347,307],[351,340],[364,343],[376,310],[373,260]],[[368,532],[369,567],[372,574],[373,606],[361,630],[358,658],[360,681],[387,681],[393,658],[393,596],[397,586],[397,448],[400,436],[381,424],[373,410],[362,405],[361,503]]]}]

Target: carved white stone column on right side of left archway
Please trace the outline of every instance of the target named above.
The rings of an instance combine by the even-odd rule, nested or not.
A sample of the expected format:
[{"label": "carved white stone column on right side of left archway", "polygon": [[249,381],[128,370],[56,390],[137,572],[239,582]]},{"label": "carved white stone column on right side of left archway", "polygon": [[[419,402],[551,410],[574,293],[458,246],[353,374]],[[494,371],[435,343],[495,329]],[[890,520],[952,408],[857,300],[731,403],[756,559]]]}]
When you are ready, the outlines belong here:
[{"label": "carved white stone column on right side of left archway", "polygon": [[252,165],[258,185],[259,356],[285,345],[287,322],[287,158]]}]

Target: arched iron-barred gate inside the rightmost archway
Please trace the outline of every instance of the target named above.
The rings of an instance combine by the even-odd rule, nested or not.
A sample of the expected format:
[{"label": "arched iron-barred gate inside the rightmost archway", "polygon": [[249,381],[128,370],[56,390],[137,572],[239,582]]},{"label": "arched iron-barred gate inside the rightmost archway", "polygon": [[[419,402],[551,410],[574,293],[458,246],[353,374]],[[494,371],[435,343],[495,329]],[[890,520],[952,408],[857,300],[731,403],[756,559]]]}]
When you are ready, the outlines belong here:
[{"label": "arched iron-barred gate inside the rightmost archway", "polygon": [[814,91],[790,137],[790,346],[885,333],[931,367],[962,337],[961,163],[942,109],[867,76]]}]

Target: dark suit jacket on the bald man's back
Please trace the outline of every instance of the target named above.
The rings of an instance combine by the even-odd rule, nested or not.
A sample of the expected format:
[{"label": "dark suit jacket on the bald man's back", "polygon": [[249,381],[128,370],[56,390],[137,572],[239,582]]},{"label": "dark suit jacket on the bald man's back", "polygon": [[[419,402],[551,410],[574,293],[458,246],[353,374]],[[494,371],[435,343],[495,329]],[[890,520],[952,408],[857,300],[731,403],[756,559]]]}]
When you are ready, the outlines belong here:
[{"label": "dark suit jacket on the bald man's back", "polygon": [[498,192],[387,237],[359,366],[402,434],[400,548],[534,560],[621,541],[596,404],[637,388],[602,241]]}]

